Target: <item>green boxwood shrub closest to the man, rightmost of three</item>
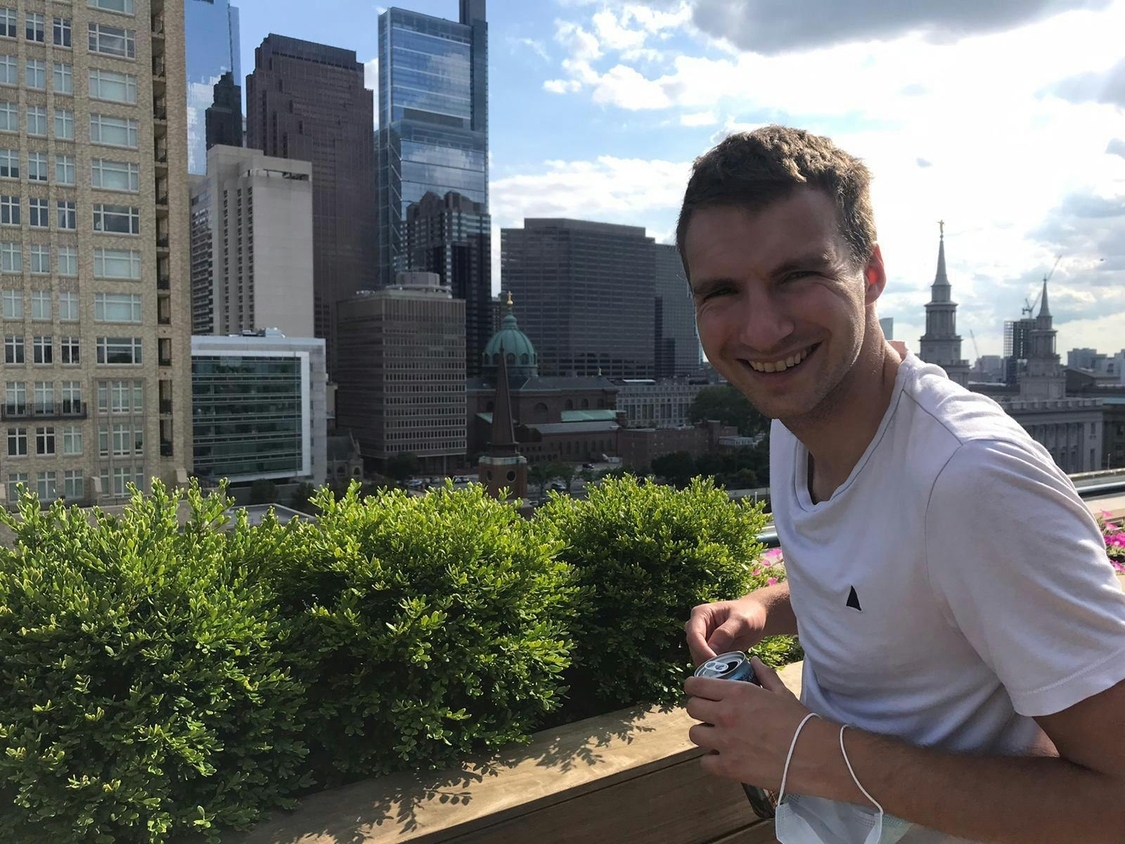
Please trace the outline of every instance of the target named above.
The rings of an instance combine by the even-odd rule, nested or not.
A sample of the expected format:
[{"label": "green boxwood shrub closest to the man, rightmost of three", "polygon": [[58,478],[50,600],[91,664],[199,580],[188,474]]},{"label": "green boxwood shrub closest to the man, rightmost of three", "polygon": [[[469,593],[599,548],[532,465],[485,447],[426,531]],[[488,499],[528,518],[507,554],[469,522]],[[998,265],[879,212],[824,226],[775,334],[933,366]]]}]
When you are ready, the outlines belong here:
[{"label": "green boxwood shrub closest to the man, rightmost of three", "polygon": [[[684,621],[695,604],[728,600],[784,576],[760,563],[762,505],[732,503],[710,479],[685,490],[608,478],[579,501],[561,495],[537,521],[565,542],[583,592],[574,625],[568,710],[585,717],[632,703],[674,703],[691,667]],[[791,661],[791,640],[759,655]]]}]

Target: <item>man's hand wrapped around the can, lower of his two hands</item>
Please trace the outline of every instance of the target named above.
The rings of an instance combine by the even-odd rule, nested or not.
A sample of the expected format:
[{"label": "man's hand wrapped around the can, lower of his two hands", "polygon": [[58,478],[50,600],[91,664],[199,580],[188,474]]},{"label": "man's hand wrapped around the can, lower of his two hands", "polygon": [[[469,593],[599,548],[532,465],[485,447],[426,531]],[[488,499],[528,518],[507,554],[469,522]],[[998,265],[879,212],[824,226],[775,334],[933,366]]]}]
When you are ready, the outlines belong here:
[{"label": "man's hand wrapped around the can, lower of his two hands", "polygon": [[773,668],[757,657],[750,662],[762,688],[731,680],[687,677],[684,691],[692,695],[687,715],[703,721],[693,726],[687,736],[710,751],[700,760],[708,773],[777,791],[789,744],[809,710]]}]

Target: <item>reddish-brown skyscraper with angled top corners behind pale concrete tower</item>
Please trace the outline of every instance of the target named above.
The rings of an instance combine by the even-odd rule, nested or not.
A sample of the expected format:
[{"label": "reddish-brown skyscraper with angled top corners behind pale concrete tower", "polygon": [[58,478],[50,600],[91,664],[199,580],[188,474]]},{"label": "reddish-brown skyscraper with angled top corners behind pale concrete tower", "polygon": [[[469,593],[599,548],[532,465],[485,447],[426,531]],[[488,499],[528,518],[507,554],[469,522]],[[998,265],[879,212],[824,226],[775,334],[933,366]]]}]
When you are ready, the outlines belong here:
[{"label": "reddish-brown skyscraper with angled top corners behind pale concrete tower", "polygon": [[335,374],[335,304],[369,290],[375,266],[375,119],[351,50],[269,35],[246,78],[246,146],[313,163],[313,307]]}]

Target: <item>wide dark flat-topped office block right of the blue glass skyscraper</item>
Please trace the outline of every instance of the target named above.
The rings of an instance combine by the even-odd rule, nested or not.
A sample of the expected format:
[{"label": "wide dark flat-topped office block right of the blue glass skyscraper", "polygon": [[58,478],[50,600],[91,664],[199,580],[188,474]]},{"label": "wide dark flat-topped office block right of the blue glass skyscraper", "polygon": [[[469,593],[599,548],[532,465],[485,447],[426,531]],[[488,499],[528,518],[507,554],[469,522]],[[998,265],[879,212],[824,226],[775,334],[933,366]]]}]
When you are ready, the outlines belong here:
[{"label": "wide dark flat-topped office block right of the blue glass skyscraper", "polygon": [[501,232],[504,289],[541,375],[651,378],[656,250],[637,226],[524,219]]}]

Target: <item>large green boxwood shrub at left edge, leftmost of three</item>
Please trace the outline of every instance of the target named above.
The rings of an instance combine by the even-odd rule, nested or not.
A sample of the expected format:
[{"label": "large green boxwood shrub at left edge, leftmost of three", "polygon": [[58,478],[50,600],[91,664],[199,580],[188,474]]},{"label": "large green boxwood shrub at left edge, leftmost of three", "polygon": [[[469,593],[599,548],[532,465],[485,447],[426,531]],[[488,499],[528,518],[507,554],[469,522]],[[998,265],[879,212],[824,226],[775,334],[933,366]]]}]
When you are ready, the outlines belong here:
[{"label": "large green boxwood shrub at left edge, leftmost of three", "polygon": [[112,518],[25,495],[0,548],[0,841],[163,842],[246,828],[307,783],[303,688],[258,571],[276,520],[160,483]]}]

